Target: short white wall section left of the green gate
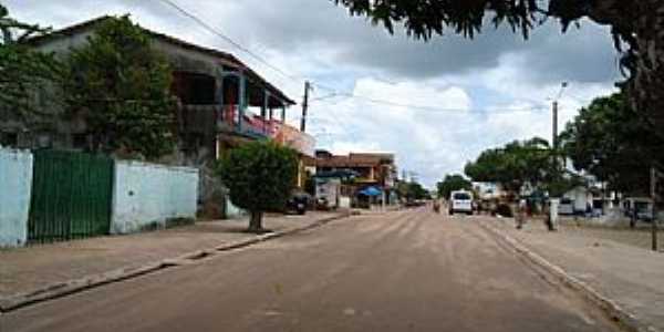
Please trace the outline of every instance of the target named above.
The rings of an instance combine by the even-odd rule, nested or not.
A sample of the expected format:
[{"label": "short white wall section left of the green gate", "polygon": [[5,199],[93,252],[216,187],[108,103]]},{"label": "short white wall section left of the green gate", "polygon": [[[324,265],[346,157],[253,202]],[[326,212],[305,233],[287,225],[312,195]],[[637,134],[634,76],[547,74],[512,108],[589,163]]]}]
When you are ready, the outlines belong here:
[{"label": "short white wall section left of the green gate", "polygon": [[0,147],[0,247],[28,240],[32,191],[32,154]]}]

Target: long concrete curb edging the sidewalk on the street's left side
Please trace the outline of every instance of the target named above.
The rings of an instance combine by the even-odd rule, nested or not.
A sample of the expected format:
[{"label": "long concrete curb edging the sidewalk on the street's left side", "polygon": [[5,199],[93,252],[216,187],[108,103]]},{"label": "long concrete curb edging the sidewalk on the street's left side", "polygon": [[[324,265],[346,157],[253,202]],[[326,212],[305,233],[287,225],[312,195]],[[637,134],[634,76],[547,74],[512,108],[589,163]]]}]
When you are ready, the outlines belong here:
[{"label": "long concrete curb edging the sidewalk on the street's left side", "polygon": [[339,214],[336,216],[323,218],[311,222],[310,225],[276,231],[271,234],[259,235],[253,238],[242,239],[237,241],[226,242],[212,249],[197,250],[188,252],[176,258],[168,258],[158,262],[152,262],[144,264],[138,268],[121,268],[110,272],[105,272],[96,276],[89,276],[81,279],[70,280],[55,284],[50,284],[44,288],[40,288],[30,292],[20,293],[7,298],[0,298],[0,315],[15,311],[25,307],[30,307],[37,303],[63,298],[74,293],[79,293],[85,290],[98,288],[110,283],[125,281],[137,277],[146,276],[156,271],[165,270],[168,268],[180,267],[191,264],[197,260],[212,257],[217,253],[231,251],[235,249],[241,249],[250,247],[260,242],[278,239],[297,232],[314,229],[329,224],[334,220],[340,220],[351,217],[350,214]]}]

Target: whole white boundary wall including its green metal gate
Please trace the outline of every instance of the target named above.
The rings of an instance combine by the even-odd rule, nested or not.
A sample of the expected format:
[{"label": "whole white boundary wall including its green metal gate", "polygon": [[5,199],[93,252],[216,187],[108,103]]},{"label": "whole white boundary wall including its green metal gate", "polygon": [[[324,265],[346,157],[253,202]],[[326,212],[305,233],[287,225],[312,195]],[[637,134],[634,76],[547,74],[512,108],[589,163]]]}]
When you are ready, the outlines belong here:
[{"label": "whole white boundary wall including its green metal gate", "polygon": [[0,247],[129,234],[195,219],[196,168],[0,148]]}]

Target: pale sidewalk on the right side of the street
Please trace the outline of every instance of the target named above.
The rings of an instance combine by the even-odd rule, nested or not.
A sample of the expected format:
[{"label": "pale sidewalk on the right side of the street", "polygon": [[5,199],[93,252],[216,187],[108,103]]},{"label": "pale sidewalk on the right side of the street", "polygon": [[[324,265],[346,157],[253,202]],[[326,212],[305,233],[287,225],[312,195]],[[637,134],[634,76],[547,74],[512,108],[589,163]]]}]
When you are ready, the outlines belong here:
[{"label": "pale sidewalk on the right side of the street", "polygon": [[517,230],[513,219],[483,219],[600,294],[616,302],[644,325],[664,331],[664,253],[624,240],[643,237],[629,230],[585,230],[562,226],[546,230],[535,220]]}]

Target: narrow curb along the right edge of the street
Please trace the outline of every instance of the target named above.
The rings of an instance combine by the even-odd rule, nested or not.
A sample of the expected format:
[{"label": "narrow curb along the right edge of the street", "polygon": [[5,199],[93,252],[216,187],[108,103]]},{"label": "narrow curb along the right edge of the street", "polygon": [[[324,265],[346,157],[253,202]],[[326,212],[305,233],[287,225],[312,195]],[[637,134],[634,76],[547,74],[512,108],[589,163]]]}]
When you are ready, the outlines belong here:
[{"label": "narrow curb along the right edge of the street", "polygon": [[551,263],[543,257],[539,256],[538,253],[535,253],[532,250],[528,249],[526,246],[521,245],[518,240],[510,237],[509,235],[496,229],[492,226],[488,226],[485,222],[479,222],[479,225],[481,228],[494,234],[496,237],[509,245],[517,252],[526,257],[530,262],[535,263],[536,266],[539,266],[540,268],[543,268],[558,280],[560,280],[564,286],[580,293],[584,300],[599,307],[609,315],[609,318],[620,323],[623,328],[626,328],[629,331],[660,332],[660,330],[657,330],[656,328],[640,322],[633,313],[630,313],[626,310],[624,310],[615,301],[602,295],[588,283],[572,277],[561,267]]}]

